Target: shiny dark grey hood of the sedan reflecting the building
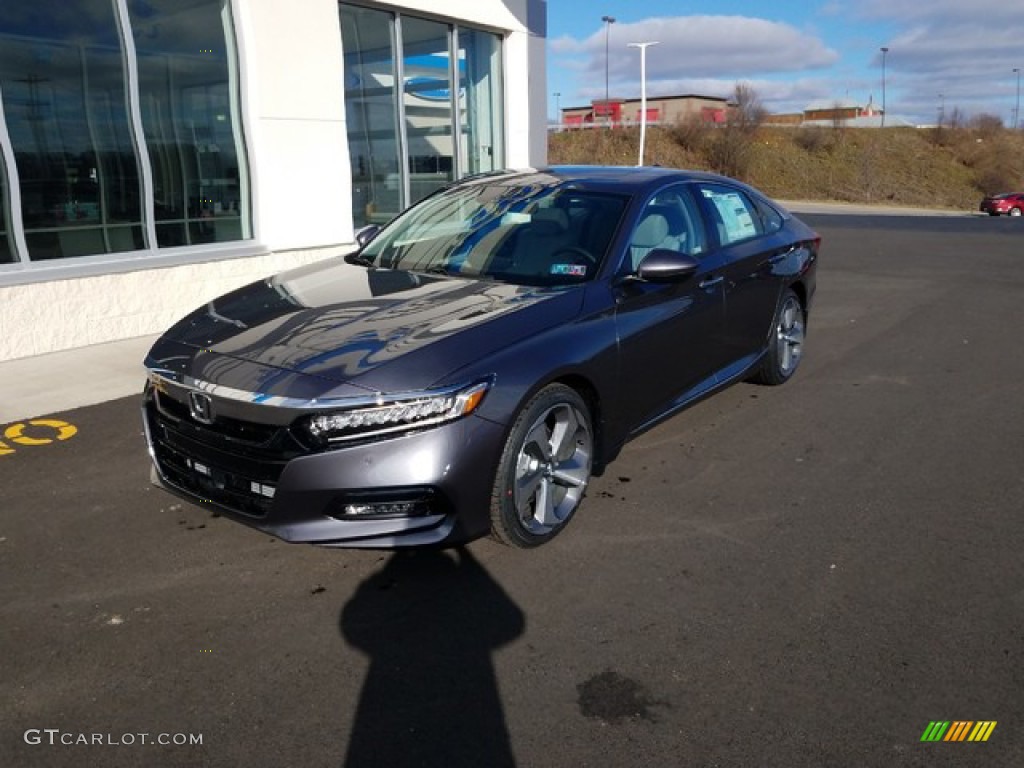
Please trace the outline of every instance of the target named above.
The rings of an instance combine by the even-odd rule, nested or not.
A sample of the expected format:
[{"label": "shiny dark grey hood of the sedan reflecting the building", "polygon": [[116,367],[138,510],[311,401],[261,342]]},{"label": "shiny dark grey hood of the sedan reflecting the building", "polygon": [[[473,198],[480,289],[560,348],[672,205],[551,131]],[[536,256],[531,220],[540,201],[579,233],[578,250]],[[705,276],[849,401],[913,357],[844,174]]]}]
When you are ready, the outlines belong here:
[{"label": "shiny dark grey hood of the sedan reflecting the building", "polygon": [[268,395],[421,389],[569,321],[584,290],[333,261],[214,299],[164,334],[146,365]]}]

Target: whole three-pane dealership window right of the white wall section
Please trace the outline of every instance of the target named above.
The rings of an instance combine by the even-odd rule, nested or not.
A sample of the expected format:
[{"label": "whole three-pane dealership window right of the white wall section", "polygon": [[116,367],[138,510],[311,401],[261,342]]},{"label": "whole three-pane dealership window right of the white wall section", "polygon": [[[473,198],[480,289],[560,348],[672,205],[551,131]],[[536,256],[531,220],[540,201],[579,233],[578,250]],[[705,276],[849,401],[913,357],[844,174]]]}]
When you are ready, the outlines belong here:
[{"label": "whole three-pane dealership window right of the white wall section", "polygon": [[503,167],[501,36],[345,3],[340,13],[356,226]]}]

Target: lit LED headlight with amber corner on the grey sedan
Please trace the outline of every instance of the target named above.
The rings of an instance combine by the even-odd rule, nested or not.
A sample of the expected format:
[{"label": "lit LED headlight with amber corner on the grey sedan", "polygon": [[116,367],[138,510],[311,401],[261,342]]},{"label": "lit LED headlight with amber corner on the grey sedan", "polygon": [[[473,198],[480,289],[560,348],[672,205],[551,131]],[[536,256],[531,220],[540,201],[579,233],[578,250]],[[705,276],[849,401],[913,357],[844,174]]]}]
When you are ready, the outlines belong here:
[{"label": "lit LED headlight with amber corner on the grey sedan", "polygon": [[469,386],[425,391],[346,411],[308,417],[305,430],[317,442],[337,442],[433,426],[473,413],[490,388],[489,381]]}]

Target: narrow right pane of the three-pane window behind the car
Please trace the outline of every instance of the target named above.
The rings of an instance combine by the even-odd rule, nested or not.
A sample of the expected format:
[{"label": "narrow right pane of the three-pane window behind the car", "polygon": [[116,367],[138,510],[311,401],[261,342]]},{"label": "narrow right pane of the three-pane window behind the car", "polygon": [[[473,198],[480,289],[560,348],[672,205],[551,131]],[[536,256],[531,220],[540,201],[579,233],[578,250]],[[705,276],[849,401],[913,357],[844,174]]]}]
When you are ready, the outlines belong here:
[{"label": "narrow right pane of the three-pane window behind the car", "polygon": [[459,28],[459,82],[463,168],[469,174],[502,168],[502,45],[498,35]]}]

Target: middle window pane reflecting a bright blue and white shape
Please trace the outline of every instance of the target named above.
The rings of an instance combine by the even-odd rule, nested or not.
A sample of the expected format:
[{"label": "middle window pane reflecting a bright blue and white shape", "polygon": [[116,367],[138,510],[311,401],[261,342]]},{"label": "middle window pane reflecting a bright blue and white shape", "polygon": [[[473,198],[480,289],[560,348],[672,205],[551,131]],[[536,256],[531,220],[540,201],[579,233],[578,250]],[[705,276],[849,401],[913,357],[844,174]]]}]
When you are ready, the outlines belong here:
[{"label": "middle window pane reflecting a bright blue and white shape", "polygon": [[410,204],[455,179],[449,30],[437,22],[401,18]]}]

